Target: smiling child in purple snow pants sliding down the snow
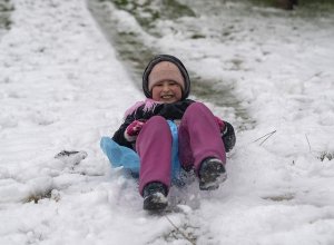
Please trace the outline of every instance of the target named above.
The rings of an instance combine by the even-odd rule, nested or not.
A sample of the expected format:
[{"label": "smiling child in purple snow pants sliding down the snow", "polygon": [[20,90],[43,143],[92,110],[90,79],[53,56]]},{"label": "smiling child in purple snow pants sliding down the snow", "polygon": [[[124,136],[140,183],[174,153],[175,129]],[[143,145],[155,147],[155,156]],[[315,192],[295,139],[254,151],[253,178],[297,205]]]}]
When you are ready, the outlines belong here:
[{"label": "smiling child in purple snow pants sliding down the snow", "polygon": [[155,57],[144,71],[143,90],[147,99],[127,110],[112,140],[139,155],[144,209],[160,210],[168,204],[173,139],[167,119],[178,125],[181,167],[195,169],[200,189],[218,188],[226,179],[225,153],[235,145],[232,125],[215,117],[204,104],[187,99],[190,79],[176,57]]}]

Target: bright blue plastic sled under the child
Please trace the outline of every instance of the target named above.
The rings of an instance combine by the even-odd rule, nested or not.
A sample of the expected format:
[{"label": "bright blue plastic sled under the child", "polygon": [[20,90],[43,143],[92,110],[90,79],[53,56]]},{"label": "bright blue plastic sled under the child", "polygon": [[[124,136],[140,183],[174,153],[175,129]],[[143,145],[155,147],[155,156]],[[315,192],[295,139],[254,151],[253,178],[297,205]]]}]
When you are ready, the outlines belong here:
[{"label": "bright blue plastic sled under the child", "polygon": [[[181,167],[178,159],[178,134],[177,126],[175,122],[167,120],[170,127],[173,136],[173,146],[171,146],[171,179],[174,184],[181,183]],[[138,154],[128,148],[118,145],[109,137],[102,137],[100,141],[100,147],[102,151],[107,155],[112,167],[124,167],[126,170],[129,170],[134,176],[139,176],[140,169],[140,159]]]}]

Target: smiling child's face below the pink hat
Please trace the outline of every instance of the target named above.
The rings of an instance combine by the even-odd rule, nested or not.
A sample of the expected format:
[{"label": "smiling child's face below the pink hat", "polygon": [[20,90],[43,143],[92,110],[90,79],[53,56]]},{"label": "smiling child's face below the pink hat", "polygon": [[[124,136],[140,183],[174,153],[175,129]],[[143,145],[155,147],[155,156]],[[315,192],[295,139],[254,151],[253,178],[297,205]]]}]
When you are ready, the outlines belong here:
[{"label": "smiling child's face below the pink hat", "polygon": [[151,88],[151,98],[160,102],[176,102],[183,97],[180,86],[173,80],[164,80],[154,85]]}]

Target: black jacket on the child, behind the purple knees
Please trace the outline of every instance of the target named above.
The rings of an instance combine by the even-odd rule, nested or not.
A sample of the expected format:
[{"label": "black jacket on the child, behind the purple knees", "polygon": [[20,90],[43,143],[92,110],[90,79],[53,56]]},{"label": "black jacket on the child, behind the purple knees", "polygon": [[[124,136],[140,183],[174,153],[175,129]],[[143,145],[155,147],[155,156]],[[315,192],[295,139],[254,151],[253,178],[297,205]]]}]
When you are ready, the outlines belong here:
[{"label": "black jacket on the child, behind the purple knees", "polygon": [[[124,124],[119,127],[119,129],[114,134],[112,140],[121,146],[126,146],[129,148],[132,147],[132,143],[129,143],[124,133],[126,128],[134,121],[134,120],[143,120],[146,121],[153,116],[161,116],[167,120],[180,120],[188,108],[189,105],[195,102],[190,99],[185,99],[181,101],[173,102],[173,104],[157,104],[150,110],[145,110],[145,105],[138,107],[132,114],[128,115],[124,121]],[[235,145],[235,133],[234,128],[227,121],[224,121],[226,127],[222,133],[222,139],[225,145],[225,150],[229,151]]]}]

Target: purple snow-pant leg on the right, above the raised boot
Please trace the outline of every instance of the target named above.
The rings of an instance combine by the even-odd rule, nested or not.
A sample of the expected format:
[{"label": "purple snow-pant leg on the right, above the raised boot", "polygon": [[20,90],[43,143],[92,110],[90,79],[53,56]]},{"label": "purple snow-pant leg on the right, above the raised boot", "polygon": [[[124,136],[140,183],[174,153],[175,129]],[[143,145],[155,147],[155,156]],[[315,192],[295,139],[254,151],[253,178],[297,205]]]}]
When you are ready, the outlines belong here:
[{"label": "purple snow-pant leg on the right, above the raised boot", "polygon": [[212,111],[202,102],[191,104],[179,126],[179,158],[185,169],[195,166],[207,157],[216,157],[224,164],[226,154],[219,127]]}]

